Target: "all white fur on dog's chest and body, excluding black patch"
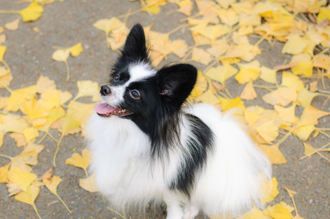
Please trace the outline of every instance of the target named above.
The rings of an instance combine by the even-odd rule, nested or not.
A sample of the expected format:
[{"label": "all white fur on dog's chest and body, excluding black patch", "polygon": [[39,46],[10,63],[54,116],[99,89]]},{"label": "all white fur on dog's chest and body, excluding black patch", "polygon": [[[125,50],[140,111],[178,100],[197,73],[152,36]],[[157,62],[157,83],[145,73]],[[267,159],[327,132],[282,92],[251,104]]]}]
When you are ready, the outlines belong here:
[{"label": "all white fur on dog's chest and body, excluding black patch", "polygon": [[[130,119],[96,114],[89,119],[91,172],[100,192],[120,209],[164,200],[167,219],[195,218],[201,210],[209,216],[239,215],[259,202],[259,187],[270,178],[267,157],[259,151],[241,124],[208,104],[185,111],[199,117],[216,137],[203,169],[197,174],[190,200],[168,185],[177,176],[182,147],[170,149],[162,161],[150,159],[148,136]],[[180,124],[181,140],[189,134],[188,119]],[[184,141],[182,141],[184,142]]]}]

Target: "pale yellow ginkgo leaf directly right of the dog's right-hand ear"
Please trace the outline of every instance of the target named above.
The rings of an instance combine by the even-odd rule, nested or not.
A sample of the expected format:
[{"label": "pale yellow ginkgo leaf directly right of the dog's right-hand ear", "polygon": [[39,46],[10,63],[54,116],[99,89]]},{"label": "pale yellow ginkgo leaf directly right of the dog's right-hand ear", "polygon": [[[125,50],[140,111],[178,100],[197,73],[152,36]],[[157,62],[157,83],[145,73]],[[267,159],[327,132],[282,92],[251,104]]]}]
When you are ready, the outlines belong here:
[{"label": "pale yellow ginkgo leaf directly right of the dog's right-hand ear", "polygon": [[232,67],[232,65],[225,64],[219,65],[215,68],[210,68],[208,71],[206,71],[205,75],[212,80],[216,80],[217,82],[224,84],[225,80],[234,76],[237,72],[238,70]]}]

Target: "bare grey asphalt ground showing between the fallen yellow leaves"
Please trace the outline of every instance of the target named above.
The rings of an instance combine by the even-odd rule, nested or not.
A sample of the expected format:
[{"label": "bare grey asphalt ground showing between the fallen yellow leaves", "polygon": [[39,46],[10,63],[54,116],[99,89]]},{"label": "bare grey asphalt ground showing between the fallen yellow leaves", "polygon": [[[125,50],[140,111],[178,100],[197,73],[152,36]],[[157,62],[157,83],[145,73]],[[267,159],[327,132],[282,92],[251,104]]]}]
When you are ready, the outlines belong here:
[{"label": "bare grey asphalt ground showing between the fallen yellow leaves", "polygon": [[[27,3],[17,4],[16,1],[0,0],[0,10],[20,10],[25,8]],[[56,86],[62,91],[70,91],[73,95],[77,93],[77,80],[93,80],[100,84],[107,80],[109,66],[118,54],[117,51],[111,51],[105,45],[104,32],[93,27],[93,23],[99,19],[111,18],[125,14],[131,8],[132,11],[140,8],[139,1],[126,0],[65,0],[56,1],[50,5],[45,5],[45,12],[36,22],[23,23],[20,21],[18,30],[10,32],[5,31],[8,46],[5,54],[5,60],[12,69],[14,80],[10,84],[11,89],[19,89],[35,84],[36,80],[42,74],[56,81]],[[149,16],[145,12],[132,15],[127,20],[127,26],[131,27],[134,23],[150,25],[155,22],[153,30],[158,32],[169,32],[173,27],[177,27],[180,19],[184,16],[179,13],[168,12],[175,10],[177,6],[168,4],[162,8],[161,14]],[[19,18],[17,14],[0,14],[0,26]],[[33,28],[38,27],[40,32],[34,32]],[[188,29],[182,29],[171,35],[172,39],[185,39],[189,45],[192,45],[192,38]],[[252,42],[258,41],[257,38],[251,38]],[[66,70],[63,62],[56,62],[51,59],[54,49],[53,45],[69,47],[78,42],[83,43],[84,51],[80,56],[68,59],[71,78],[66,82]],[[263,55],[258,56],[261,65],[274,67],[283,64],[289,56],[281,55],[281,44],[276,43],[271,47],[267,42],[261,43]],[[168,56],[168,62],[177,62],[176,56]],[[205,67],[197,65],[203,70]],[[259,84],[263,82],[258,81]],[[329,80],[326,81],[327,89],[330,88]],[[239,95],[243,86],[234,82],[234,79],[228,80],[228,87],[232,95]],[[261,97],[266,93],[263,89],[256,89]],[[7,91],[1,90],[1,95],[9,95]],[[325,97],[316,97],[312,105],[318,106],[323,111],[330,111],[330,102],[323,104]],[[261,100],[247,102],[259,104],[270,108]],[[297,115],[300,116],[302,110],[297,109]],[[320,119],[320,127],[329,127],[330,117]],[[53,133],[59,137],[57,132]],[[313,146],[322,146],[329,142],[324,136],[309,141]],[[43,141],[45,150],[39,155],[39,165],[33,167],[33,172],[42,176],[47,170],[52,168],[52,155],[56,148],[56,143],[50,138]],[[120,218],[112,213],[108,203],[99,194],[91,194],[78,186],[79,178],[85,177],[83,170],[66,165],[65,160],[72,156],[74,150],[81,152],[84,148],[83,139],[80,135],[69,135],[63,139],[61,150],[58,153],[58,166],[54,169],[54,174],[63,178],[58,187],[58,194],[72,210],[68,214],[63,205],[47,189],[42,188],[39,197],[36,199],[36,207],[42,218]],[[283,165],[274,165],[274,176],[276,176],[280,194],[274,203],[283,200],[292,205],[292,201],[283,189],[284,186],[296,191],[294,196],[298,212],[301,217],[307,218],[330,218],[330,165],[325,159],[318,155],[300,160],[303,157],[303,143],[297,137],[289,138],[280,147],[287,159]],[[17,149],[15,143],[8,135],[4,138],[4,144],[0,148],[1,154],[16,156],[21,150]],[[325,154],[329,157],[329,154]],[[8,160],[0,158],[0,166],[8,163]],[[137,188],[138,189],[138,188]],[[111,207],[111,206],[110,206]],[[144,214],[134,211],[132,218],[165,218],[166,209],[164,207],[148,208]],[[32,207],[24,203],[19,203],[14,198],[8,197],[8,191],[5,184],[0,184],[0,218],[37,218]],[[203,218],[201,216],[200,218]]]}]

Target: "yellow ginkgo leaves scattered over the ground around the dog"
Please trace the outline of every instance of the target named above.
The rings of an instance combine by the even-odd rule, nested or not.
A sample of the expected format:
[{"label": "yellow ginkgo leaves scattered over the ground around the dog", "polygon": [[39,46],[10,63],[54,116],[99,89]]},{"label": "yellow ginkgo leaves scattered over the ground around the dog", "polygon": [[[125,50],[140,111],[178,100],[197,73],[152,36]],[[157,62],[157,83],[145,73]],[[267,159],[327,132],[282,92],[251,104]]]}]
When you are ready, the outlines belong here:
[{"label": "yellow ginkgo leaves scattered over the ground around the dog", "polygon": [[[21,14],[23,21],[36,21],[43,13],[43,4],[52,1],[32,1],[28,8],[20,11],[0,10],[0,13]],[[126,21],[132,14],[142,13],[157,16],[168,3],[175,4],[177,10],[186,17],[181,25],[168,33],[153,30],[153,23],[144,27],[151,47],[153,65],[164,62],[168,56],[175,55],[178,61],[193,61],[199,65],[197,86],[190,101],[207,102],[219,106],[222,111],[239,108],[250,127],[251,135],[259,143],[274,165],[286,163],[281,152],[281,145],[287,137],[295,135],[305,147],[301,159],[320,156],[330,162],[330,135],[328,127],[321,127],[319,119],[330,115],[321,111],[314,104],[315,97],[329,106],[330,91],[330,6],[324,0],[142,0],[139,10],[112,16],[109,19],[95,21],[94,27],[105,34],[105,45],[116,50],[124,45],[129,32]],[[172,12],[174,13],[174,12]],[[19,20],[14,20],[0,27],[0,43],[5,43],[5,34],[1,32],[17,30]],[[97,32],[98,30],[95,29]],[[193,39],[190,45],[185,39],[170,36],[177,31],[186,31]],[[101,34],[101,33],[100,33]],[[256,43],[251,43],[256,42]],[[265,66],[259,61],[263,54],[262,44],[279,45],[283,43],[281,53],[289,54],[290,60],[277,66]],[[17,157],[0,154],[8,159],[8,164],[0,168],[0,183],[8,185],[9,196],[16,200],[34,204],[40,187],[45,185],[65,206],[58,196],[56,188],[62,179],[52,176],[52,171],[43,176],[33,172],[33,165],[38,165],[39,153],[43,150],[46,136],[55,141],[53,166],[56,167],[56,154],[61,150],[61,141],[65,135],[84,133],[85,122],[93,112],[94,103],[78,102],[80,97],[91,97],[98,102],[96,82],[78,81],[78,94],[73,97],[68,91],[56,89],[50,78],[40,76],[36,84],[22,89],[10,89],[12,72],[5,62],[7,47],[0,45],[0,88],[8,91],[8,96],[0,97],[0,146],[4,135],[9,135],[22,148]],[[68,56],[79,56],[83,51],[82,43],[72,47],[59,48],[52,59],[65,62],[67,80],[69,79]],[[274,54],[281,56],[281,54]],[[243,87],[239,95],[227,87],[228,80],[236,81],[237,87]],[[262,85],[261,85],[262,84]],[[235,88],[236,89],[236,88]],[[261,95],[260,93],[263,93]],[[261,100],[261,104],[253,100]],[[328,107],[329,108],[329,107]],[[50,134],[58,130],[61,137]],[[324,146],[314,146],[311,142],[323,135],[328,139]],[[315,154],[315,155],[314,155]],[[66,164],[74,165],[85,171],[86,178],[79,181],[80,187],[89,192],[96,192],[94,176],[89,176],[87,168],[91,159],[88,150],[82,154],[74,153]],[[65,180],[65,179],[64,179]],[[294,207],[287,203],[274,203],[278,196],[276,178],[263,189],[261,202],[267,204],[263,211],[254,207],[252,211],[240,216],[249,218],[301,218],[296,208],[294,191],[286,189],[292,198]],[[283,186],[282,186],[283,187]],[[296,216],[293,216],[293,215]],[[39,215],[39,214],[38,214]],[[40,218],[40,216],[39,216]]]}]

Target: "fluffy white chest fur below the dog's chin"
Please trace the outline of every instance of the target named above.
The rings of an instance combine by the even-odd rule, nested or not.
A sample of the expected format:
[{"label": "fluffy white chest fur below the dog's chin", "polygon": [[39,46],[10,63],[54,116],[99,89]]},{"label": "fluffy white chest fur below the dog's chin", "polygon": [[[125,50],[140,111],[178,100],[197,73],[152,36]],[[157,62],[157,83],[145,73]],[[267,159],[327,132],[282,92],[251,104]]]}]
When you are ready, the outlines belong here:
[{"label": "fluffy white chest fur below the dog's chin", "polygon": [[121,207],[129,200],[144,205],[162,199],[175,177],[179,153],[170,153],[162,163],[151,161],[148,136],[129,119],[93,115],[88,132],[94,154],[91,172],[113,204]]}]

